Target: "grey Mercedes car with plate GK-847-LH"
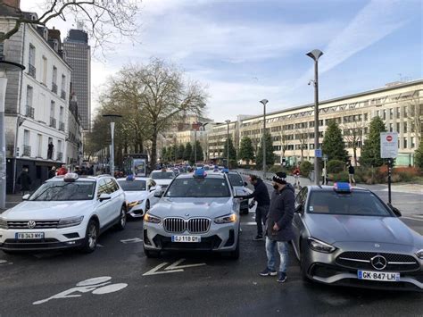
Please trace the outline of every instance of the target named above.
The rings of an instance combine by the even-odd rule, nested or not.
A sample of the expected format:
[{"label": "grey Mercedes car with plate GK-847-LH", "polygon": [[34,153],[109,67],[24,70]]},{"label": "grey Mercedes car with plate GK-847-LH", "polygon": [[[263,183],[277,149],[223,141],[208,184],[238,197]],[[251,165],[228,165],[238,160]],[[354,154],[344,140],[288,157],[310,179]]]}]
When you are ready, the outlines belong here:
[{"label": "grey Mercedes car with plate GK-847-LH", "polygon": [[368,189],[309,186],[295,198],[294,252],[303,279],[423,290],[423,238]]}]

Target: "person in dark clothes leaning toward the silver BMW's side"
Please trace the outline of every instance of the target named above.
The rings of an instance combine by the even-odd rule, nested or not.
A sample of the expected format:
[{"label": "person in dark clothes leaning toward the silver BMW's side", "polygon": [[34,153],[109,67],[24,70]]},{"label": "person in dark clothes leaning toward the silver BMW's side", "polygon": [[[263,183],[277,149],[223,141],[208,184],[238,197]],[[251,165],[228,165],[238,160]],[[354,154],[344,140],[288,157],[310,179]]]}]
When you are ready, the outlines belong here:
[{"label": "person in dark clothes leaning toward the silver BMW's side", "polygon": [[250,182],[254,187],[252,194],[243,196],[243,199],[254,198],[257,202],[255,209],[255,222],[257,223],[257,236],[253,238],[255,241],[263,239],[263,225],[266,224],[266,219],[269,211],[270,197],[266,184],[256,175],[250,175]]}]

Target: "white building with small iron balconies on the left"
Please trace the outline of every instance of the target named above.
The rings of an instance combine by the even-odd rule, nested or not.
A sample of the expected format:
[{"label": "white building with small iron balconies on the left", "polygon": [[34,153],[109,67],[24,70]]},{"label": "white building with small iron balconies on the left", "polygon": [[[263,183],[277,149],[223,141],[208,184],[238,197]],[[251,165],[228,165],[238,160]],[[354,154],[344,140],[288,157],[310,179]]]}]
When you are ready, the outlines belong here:
[{"label": "white building with small iron balconies on the left", "polygon": [[[16,14],[2,10],[0,32],[12,29],[16,19]],[[65,62],[56,29],[22,24],[4,42],[3,52],[5,60],[26,67],[25,71],[7,74],[6,171],[7,191],[12,192],[22,166],[29,167],[36,187],[46,179],[51,166],[66,160],[71,67]]]}]

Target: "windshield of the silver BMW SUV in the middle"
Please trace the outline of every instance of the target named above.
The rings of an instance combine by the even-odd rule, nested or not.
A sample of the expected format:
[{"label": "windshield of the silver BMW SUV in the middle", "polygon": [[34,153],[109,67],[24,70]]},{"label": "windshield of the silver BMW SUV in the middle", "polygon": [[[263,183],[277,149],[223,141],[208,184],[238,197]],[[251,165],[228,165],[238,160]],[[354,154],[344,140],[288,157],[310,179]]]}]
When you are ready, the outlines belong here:
[{"label": "windshield of the silver BMW SUV in the middle", "polygon": [[225,179],[175,179],[166,197],[228,197],[228,183]]}]

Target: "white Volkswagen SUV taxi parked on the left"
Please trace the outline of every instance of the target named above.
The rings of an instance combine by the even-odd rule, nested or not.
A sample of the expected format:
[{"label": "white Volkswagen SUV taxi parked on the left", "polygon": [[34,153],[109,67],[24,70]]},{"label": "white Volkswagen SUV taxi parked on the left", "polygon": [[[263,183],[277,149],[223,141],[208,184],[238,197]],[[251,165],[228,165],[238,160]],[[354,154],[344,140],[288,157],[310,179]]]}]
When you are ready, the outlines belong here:
[{"label": "white Volkswagen SUV taxi parked on the left", "polygon": [[5,253],[64,248],[91,253],[104,230],[126,225],[125,193],[108,175],[56,176],[23,199],[0,214],[0,249]]}]

